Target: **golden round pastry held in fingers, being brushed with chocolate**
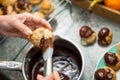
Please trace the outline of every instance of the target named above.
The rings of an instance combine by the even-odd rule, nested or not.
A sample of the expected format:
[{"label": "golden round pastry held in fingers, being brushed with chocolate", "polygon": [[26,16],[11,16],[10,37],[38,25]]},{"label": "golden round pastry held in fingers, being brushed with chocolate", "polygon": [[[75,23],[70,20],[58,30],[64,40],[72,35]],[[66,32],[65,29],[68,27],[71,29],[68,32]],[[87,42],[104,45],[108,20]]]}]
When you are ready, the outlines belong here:
[{"label": "golden round pastry held in fingers, being brushed with chocolate", "polygon": [[54,34],[50,30],[40,27],[33,31],[32,35],[30,36],[30,41],[36,47],[41,47],[42,39],[51,39],[54,42]]}]

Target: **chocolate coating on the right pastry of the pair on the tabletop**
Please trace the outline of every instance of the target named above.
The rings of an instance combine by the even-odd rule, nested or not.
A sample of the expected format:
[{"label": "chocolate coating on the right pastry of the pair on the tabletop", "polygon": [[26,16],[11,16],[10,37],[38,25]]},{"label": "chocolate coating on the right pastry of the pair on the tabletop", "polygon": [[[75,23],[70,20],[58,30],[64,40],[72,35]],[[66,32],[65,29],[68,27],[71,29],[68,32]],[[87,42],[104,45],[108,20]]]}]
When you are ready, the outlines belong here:
[{"label": "chocolate coating on the right pastry of the pair on the tabletop", "polygon": [[99,33],[98,33],[98,43],[102,46],[107,46],[109,43],[106,41],[106,37],[109,34],[109,29],[108,28],[102,28]]}]

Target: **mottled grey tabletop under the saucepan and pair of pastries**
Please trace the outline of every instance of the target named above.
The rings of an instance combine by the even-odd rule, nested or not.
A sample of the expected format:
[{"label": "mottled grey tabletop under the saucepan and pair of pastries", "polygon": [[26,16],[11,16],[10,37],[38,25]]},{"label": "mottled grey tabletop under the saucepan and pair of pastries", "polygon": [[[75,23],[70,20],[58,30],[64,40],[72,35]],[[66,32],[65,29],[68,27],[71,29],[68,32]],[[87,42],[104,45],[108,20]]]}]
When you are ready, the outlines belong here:
[{"label": "mottled grey tabletop under the saucepan and pair of pastries", "polygon": [[[85,60],[84,74],[81,80],[91,80],[94,69],[97,65],[97,62],[104,54],[105,51],[110,49],[113,45],[120,41],[120,24],[114,21],[110,21],[106,18],[98,16],[94,13],[89,13],[81,8],[72,6],[72,13],[68,9],[65,9],[62,13],[55,17],[57,20],[56,28],[54,33],[57,35],[63,35],[64,37],[72,40],[83,52]],[[91,26],[95,29],[96,33],[102,27],[108,27],[113,31],[113,41],[107,47],[101,47],[98,45],[97,41],[94,45],[83,46],[80,43],[79,29],[83,25]],[[0,60],[13,60],[15,56],[20,51],[15,61],[22,62],[25,56],[25,52],[28,47],[31,45],[29,42],[24,49],[21,51],[21,48],[27,43],[27,40],[9,37],[0,44]],[[20,71],[10,71],[10,70],[0,70],[2,73],[7,75],[10,80],[24,80]],[[119,79],[120,80],[120,77]]]}]

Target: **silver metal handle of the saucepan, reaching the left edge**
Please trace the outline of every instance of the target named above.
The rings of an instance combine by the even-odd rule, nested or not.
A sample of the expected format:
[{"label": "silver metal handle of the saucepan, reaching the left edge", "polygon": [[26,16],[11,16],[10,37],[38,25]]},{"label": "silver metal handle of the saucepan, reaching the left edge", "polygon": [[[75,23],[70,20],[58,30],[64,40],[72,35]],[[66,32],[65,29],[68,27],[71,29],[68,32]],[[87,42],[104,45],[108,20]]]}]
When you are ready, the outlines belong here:
[{"label": "silver metal handle of the saucepan, reaching the left edge", "polygon": [[22,63],[15,61],[0,61],[0,69],[22,70]]}]

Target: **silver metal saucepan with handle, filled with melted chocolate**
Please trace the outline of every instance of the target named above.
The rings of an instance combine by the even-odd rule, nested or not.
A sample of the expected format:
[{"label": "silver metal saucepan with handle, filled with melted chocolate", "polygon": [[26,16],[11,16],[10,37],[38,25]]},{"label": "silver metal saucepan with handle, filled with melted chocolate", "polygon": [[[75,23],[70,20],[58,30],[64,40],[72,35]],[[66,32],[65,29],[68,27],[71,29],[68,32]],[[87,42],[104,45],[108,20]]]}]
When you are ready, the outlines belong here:
[{"label": "silver metal saucepan with handle, filled with melted chocolate", "polygon": [[[63,36],[55,36],[53,70],[57,70],[61,80],[80,80],[84,71],[84,58],[80,48]],[[41,49],[31,45],[23,62],[0,61],[0,68],[22,70],[25,80],[36,80],[37,74],[43,75]]]}]

